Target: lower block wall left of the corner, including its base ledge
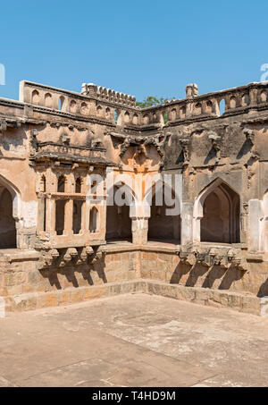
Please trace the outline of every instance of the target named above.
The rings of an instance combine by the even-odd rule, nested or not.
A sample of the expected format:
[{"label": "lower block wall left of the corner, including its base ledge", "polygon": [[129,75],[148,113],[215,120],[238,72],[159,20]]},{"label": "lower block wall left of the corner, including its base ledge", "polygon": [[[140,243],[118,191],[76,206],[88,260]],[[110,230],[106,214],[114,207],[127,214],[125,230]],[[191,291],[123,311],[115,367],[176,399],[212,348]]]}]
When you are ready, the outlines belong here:
[{"label": "lower block wall left of the corner, including its base ledge", "polygon": [[40,270],[38,259],[36,252],[29,251],[0,257],[0,296],[5,298],[7,310],[54,307],[97,298],[111,291],[120,292],[121,283],[138,279],[138,252],[132,249],[107,252],[92,265]]}]

